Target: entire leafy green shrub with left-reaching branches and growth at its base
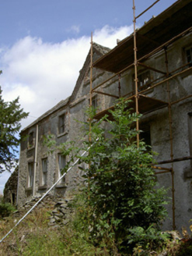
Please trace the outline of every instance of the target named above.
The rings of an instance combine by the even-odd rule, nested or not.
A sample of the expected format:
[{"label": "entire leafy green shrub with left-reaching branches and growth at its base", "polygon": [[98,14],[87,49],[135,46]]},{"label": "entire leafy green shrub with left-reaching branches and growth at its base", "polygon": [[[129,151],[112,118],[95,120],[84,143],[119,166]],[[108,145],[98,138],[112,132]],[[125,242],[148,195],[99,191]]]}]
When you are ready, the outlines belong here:
[{"label": "entire leafy green shrub with left-reaching branches and growth at its base", "polygon": [[[145,255],[166,240],[159,232],[166,216],[166,190],[155,189],[153,153],[144,141],[138,147],[134,127],[140,116],[127,103],[120,101],[99,122],[93,122],[92,108],[87,111],[89,122],[82,126],[88,131],[81,150],[93,146],[81,157],[86,169],[79,165],[86,186],[75,204],[72,244],[65,244],[68,255]],[[52,136],[45,144],[51,153],[57,149],[70,156],[64,172],[80,151],[74,142],[58,146]]]}]

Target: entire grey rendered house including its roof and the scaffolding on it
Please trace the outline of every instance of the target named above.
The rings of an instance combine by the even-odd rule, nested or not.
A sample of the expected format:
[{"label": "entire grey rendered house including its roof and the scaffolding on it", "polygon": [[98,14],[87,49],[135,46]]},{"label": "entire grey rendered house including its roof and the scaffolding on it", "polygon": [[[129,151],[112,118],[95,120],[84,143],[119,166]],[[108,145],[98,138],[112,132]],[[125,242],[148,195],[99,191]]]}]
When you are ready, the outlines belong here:
[{"label": "entire grey rendered house including its roof and the scaffolding on it", "polygon": [[[43,144],[44,135],[54,134],[57,144],[74,138],[78,140],[82,131],[76,120],[85,121],[90,97],[96,107],[96,120],[113,107],[117,98],[123,97],[131,99],[131,108],[142,114],[140,139],[158,153],[155,176],[159,186],[169,188],[168,194],[172,197],[167,205],[169,218],[163,227],[180,229],[188,225],[192,218],[190,13],[190,0],[176,1],[159,16],[134,30],[135,34],[118,41],[112,50],[92,44],[71,97],[60,101],[22,130],[22,135],[27,135],[28,139],[20,147],[19,207],[30,197],[44,194],[61,176],[60,170],[67,161],[60,151],[48,154]],[[93,68],[90,69],[92,58]],[[75,167],[51,193],[64,196],[75,190],[82,180],[81,171]]]}]

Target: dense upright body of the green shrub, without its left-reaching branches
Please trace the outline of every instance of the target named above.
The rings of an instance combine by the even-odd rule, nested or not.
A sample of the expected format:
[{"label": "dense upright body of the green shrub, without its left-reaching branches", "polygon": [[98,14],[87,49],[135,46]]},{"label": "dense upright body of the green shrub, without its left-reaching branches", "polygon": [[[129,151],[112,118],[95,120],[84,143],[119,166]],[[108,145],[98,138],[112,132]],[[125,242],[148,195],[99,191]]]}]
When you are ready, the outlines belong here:
[{"label": "dense upright body of the green shrub, without its left-reaching branches", "polygon": [[[131,252],[136,244],[152,245],[166,216],[162,205],[166,191],[155,190],[153,155],[144,141],[139,147],[136,143],[138,131],[133,127],[138,118],[127,109],[127,102],[120,101],[110,119],[89,123],[88,135],[99,140],[82,158],[88,164],[85,205],[90,236],[98,244],[110,239],[121,252]],[[107,129],[100,126],[103,120]]]}]

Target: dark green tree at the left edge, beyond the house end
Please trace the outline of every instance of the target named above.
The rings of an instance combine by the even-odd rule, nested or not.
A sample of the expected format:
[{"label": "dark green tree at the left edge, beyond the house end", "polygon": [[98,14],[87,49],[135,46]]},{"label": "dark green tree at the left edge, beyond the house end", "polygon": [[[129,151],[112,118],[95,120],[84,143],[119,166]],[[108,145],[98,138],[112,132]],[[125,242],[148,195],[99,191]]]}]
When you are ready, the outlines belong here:
[{"label": "dark green tree at the left edge, beyond the house end", "polygon": [[20,143],[20,121],[28,116],[20,108],[19,98],[6,102],[2,98],[0,87],[0,173],[16,165],[17,147]]}]

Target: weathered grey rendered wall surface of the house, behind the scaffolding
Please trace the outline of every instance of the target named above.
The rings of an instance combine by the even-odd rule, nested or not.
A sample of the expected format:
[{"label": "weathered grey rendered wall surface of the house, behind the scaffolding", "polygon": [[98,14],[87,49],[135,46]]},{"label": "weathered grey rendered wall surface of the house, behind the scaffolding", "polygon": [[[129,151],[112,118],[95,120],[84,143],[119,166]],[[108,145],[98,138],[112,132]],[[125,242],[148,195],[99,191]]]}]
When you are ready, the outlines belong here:
[{"label": "weathered grey rendered wall surface of the house, behind the scaffolding", "polygon": [[[182,2],[182,1],[180,1]],[[190,5],[191,6],[191,5]],[[152,20],[151,23],[155,23]],[[124,41],[122,42],[124,44]],[[187,49],[192,51],[192,32],[184,34],[177,40],[169,44],[167,55],[169,57],[169,69],[173,70],[187,63]],[[93,44],[93,62],[100,57],[110,54],[110,49],[104,48],[99,44]],[[113,50],[112,50],[113,51]],[[27,126],[23,131],[23,135],[33,135],[33,143],[29,144],[29,139],[21,144],[20,160],[19,160],[19,183],[17,203],[21,207],[30,197],[43,194],[53,183],[58,179],[58,154],[55,151],[49,155],[47,148],[43,145],[44,135],[54,134],[57,144],[68,140],[76,140],[81,145],[81,124],[79,121],[85,120],[85,109],[89,105],[89,84],[90,84],[90,52],[87,55],[86,62],[79,73],[79,79],[75,85],[75,89],[70,98],[61,101],[58,105],[51,108],[43,116],[40,116],[35,122]],[[145,59],[144,63],[148,66],[153,66],[155,69],[162,70],[166,73],[164,49],[151,55]],[[159,78],[162,74],[149,70],[151,80]],[[138,67],[138,75],[145,73],[144,67]],[[107,80],[113,73],[93,68],[93,87]],[[192,98],[186,98],[192,92],[191,69],[188,72],[181,73],[169,80],[170,98],[171,101],[177,101],[180,98],[185,98],[183,101],[178,101],[172,105],[172,128],[173,128],[173,155],[174,158],[183,158],[192,155]],[[127,69],[120,77],[121,95],[128,94],[134,90],[134,68]],[[118,96],[119,89],[118,76],[108,80],[99,91]],[[150,87],[150,85],[148,85]],[[161,101],[167,101],[167,84],[166,82],[159,87],[152,87],[145,92],[145,96],[157,98]],[[104,94],[93,93],[96,97],[98,109],[101,112],[114,104],[115,98],[108,97]],[[59,119],[65,116],[65,130],[59,133]],[[159,155],[156,156],[157,162],[170,159],[170,136],[169,136],[169,115],[168,108],[160,108],[153,112],[148,112],[141,117],[141,129],[148,131],[151,140],[152,150]],[[36,135],[37,147],[36,147]],[[37,152],[37,161],[35,161]],[[47,183],[42,184],[42,159],[47,158]],[[33,168],[36,165],[36,180],[34,186],[29,186],[29,164],[32,163]],[[172,164],[163,165],[166,168],[171,168]],[[175,218],[176,227],[187,226],[191,219],[192,212],[192,170],[191,160],[174,162],[174,179],[175,179]],[[169,172],[158,174],[157,180],[159,186],[169,188],[169,196],[172,196],[171,184],[172,177]],[[64,195],[75,190],[82,182],[82,173],[78,168],[72,169],[66,176],[65,183],[60,183],[52,194]],[[164,223],[165,229],[172,228],[172,202],[167,205],[169,218]]]}]

